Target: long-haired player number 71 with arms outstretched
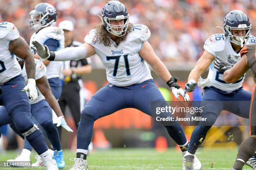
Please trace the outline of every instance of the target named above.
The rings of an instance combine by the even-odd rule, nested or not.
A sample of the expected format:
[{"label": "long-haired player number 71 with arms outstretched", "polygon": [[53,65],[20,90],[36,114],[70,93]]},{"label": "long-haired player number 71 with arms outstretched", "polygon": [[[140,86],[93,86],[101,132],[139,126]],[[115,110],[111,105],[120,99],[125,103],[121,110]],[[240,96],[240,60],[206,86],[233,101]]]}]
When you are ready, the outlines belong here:
[{"label": "long-haired player number 71 with arms outstretched", "polygon": [[[95,120],[128,107],[154,116],[151,113],[151,101],[164,101],[164,97],[156,87],[147,63],[167,83],[177,99],[179,95],[184,95],[177,84],[178,79],[170,75],[148,43],[150,30],[145,25],[129,23],[125,5],[117,0],[107,2],[102,9],[101,19],[102,25],[88,33],[82,46],[52,52],[46,45],[32,42],[35,46],[32,48],[44,60],[82,59],[96,53],[107,72],[109,84],[97,91],[82,110],[77,133],[77,158],[70,170],[87,170],[86,158]],[[185,95],[184,100],[189,100],[188,95]],[[176,122],[165,128],[184,154],[188,142],[182,126]],[[197,161],[195,169],[200,167]]]}]

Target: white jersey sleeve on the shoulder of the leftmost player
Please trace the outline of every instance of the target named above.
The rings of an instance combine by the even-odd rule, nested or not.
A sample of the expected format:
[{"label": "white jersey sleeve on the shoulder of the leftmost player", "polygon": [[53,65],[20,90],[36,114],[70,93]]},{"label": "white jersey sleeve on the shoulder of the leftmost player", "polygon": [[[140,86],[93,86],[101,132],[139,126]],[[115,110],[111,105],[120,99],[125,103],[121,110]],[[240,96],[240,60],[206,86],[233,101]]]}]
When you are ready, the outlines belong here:
[{"label": "white jersey sleeve on the shoulder of the leftmost player", "polygon": [[12,41],[20,37],[20,33],[13,23],[3,22],[0,23],[0,38],[3,37]]}]

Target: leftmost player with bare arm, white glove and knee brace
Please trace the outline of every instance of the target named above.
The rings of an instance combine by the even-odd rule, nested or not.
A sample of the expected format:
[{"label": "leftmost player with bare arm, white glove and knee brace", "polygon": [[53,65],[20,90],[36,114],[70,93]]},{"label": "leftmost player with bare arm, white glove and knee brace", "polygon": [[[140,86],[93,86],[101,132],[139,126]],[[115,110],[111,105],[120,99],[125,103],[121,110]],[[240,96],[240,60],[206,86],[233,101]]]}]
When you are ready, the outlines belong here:
[{"label": "leftmost player with bare arm, white glove and knee brace", "polygon": [[[49,154],[43,133],[32,121],[28,96],[22,92],[28,90],[29,97],[37,99],[35,62],[28,44],[20,37],[13,23],[0,23],[0,51],[0,83],[3,92],[0,105],[5,106],[15,127],[44,160],[46,170],[58,170],[56,161]],[[26,62],[27,85],[14,54]]]}]

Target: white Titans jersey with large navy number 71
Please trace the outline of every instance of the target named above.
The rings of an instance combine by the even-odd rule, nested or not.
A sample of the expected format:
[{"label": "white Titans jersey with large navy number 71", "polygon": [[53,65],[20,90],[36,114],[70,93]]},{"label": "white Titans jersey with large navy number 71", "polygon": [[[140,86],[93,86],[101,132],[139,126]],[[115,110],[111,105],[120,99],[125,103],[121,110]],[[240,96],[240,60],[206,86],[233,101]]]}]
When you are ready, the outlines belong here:
[{"label": "white Titans jersey with large navy number 71", "polygon": [[93,43],[95,29],[91,30],[84,41],[92,45],[106,68],[108,81],[116,86],[129,86],[152,79],[147,63],[139,55],[143,42],[151,33],[145,25],[133,25],[132,32],[118,47],[110,47],[97,41]]}]

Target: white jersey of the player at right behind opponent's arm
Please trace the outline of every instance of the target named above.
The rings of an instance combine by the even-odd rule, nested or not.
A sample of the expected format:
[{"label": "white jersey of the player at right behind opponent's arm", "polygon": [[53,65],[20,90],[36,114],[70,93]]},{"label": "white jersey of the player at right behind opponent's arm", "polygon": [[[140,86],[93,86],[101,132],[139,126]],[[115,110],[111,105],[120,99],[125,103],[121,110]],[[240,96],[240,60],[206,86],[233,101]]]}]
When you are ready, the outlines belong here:
[{"label": "white jersey of the player at right behind opponent's arm", "polygon": [[[256,37],[250,35],[247,44],[256,43]],[[204,45],[204,49],[215,57],[220,57],[222,60],[230,62],[235,65],[241,59],[240,52],[233,50],[231,42],[225,38],[224,34],[214,34],[211,35]],[[232,92],[242,87],[244,76],[234,83],[226,83],[223,80],[223,73],[218,72],[214,67],[214,60],[210,65],[210,70],[208,73],[208,78],[212,82],[212,86],[225,91]]]}]

